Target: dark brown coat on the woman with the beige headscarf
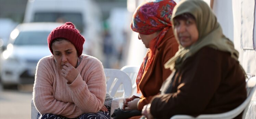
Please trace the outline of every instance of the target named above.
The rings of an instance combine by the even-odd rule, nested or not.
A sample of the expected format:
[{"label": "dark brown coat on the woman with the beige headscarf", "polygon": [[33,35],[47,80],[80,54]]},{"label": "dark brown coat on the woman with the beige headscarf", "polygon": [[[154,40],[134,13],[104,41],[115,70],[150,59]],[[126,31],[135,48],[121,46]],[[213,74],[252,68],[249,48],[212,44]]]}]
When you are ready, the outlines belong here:
[{"label": "dark brown coat on the woman with the beige headscarf", "polygon": [[243,70],[227,52],[204,47],[172,75],[163,86],[164,93],[152,99],[150,110],[157,119],[224,113],[246,99]]}]

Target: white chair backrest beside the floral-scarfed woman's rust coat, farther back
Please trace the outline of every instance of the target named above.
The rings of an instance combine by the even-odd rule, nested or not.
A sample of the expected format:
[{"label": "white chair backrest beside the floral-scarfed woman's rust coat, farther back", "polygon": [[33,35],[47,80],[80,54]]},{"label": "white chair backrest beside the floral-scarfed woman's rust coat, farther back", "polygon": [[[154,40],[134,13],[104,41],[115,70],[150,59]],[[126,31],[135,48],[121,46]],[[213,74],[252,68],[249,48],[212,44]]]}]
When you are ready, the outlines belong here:
[{"label": "white chair backrest beside the floral-scarfed woman's rust coat, farther back", "polygon": [[121,71],[124,71],[131,79],[133,95],[137,95],[136,78],[137,78],[139,69],[140,69],[139,66],[132,66],[132,65],[127,65],[121,68]]}]

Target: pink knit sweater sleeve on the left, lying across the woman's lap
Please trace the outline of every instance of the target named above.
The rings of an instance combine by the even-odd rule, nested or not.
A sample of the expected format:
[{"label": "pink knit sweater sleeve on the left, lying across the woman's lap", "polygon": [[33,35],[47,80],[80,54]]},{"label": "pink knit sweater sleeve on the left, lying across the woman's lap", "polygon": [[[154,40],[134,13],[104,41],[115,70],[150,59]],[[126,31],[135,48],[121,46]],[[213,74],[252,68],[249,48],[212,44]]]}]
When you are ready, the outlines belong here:
[{"label": "pink knit sweater sleeve on the left, lying across the woman's lap", "polygon": [[74,103],[61,102],[54,98],[53,77],[50,75],[51,69],[48,66],[49,62],[44,58],[39,61],[36,68],[33,100],[39,113],[62,115],[68,118],[83,114]]}]

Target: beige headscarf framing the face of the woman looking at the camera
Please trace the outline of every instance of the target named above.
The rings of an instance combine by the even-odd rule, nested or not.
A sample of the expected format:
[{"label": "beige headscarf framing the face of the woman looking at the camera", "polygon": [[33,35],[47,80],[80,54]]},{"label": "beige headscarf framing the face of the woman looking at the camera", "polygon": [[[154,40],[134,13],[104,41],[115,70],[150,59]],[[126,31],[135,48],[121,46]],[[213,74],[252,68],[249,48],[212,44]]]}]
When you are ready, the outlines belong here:
[{"label": "beige headscarf framing the face of the woman looking at the camera", "polygon": [[[184,48],[179,44],[179,51],[166,62],[165,68],[170,68],[171,70],[179,69],[186,58],[192,56],[205,46],[224,52],[230,52],[231,57],[238,61],[238,51],[234,49],[232,41],[223,35],[216,16],[207,3],[202,0],[183,0],[179,2],[173,10],[171,16],[172,23],[174,23],[176,16],[184,13],[190,13],[195,17],[196,26],[199,31],[199,39],[188,48]],[[174,27],[172,28],[174,29]],[[175,30],[174,35],[176,39],[178,39]]]}]

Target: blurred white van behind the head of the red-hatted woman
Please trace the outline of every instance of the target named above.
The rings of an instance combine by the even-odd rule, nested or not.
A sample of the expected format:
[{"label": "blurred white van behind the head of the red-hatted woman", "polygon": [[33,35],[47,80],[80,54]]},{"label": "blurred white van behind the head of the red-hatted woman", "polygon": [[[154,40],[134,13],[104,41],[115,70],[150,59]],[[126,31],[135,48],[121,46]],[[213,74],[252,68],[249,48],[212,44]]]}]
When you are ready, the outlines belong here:
[{"label": "blurred white van behind the head of the red-hatted woman", "polygon": [[93,0],[28,0],[24,22],[72,22],[86,39],[84,53],[103,60],[101,16]]}]

